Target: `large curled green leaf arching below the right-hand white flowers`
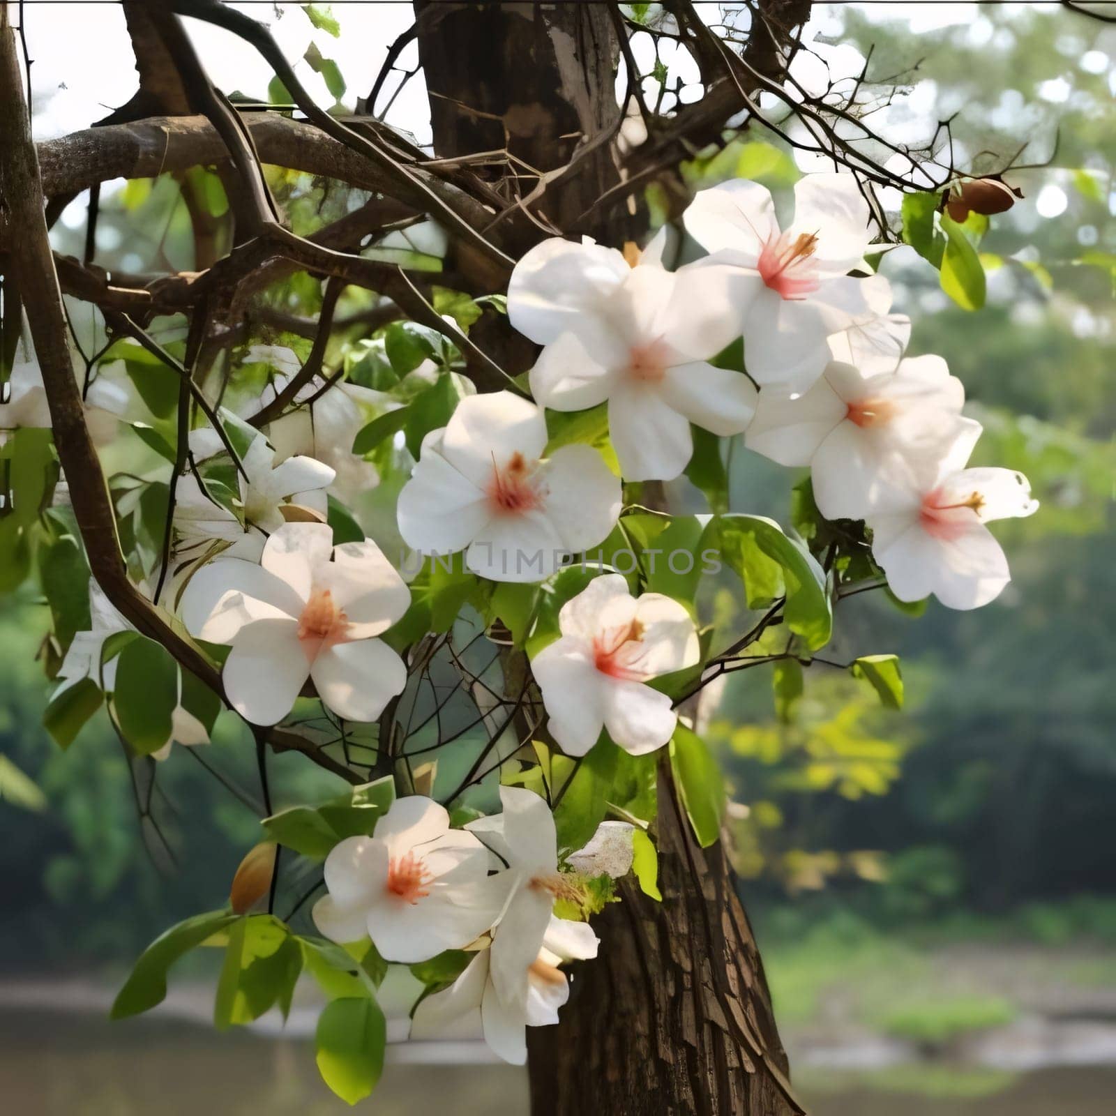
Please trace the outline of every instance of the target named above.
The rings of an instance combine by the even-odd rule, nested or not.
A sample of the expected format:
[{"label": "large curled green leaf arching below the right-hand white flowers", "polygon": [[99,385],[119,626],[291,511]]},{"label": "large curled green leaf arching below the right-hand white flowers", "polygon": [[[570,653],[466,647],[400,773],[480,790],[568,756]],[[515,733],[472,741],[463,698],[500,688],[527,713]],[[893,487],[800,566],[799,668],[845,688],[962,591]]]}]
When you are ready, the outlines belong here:
[{"label": "large curled green leaf arching below the right-hand white flowers", "polygon": [[[826,575],[814,556],[762,516],[716,516],[705,528],[702,549],[720,548],[721,560],[743,578],[749,608],[762,608],[780,594],[787,626],[810,651],[829,642],[833,606]],[[780,587],[781,583],[781,587]]]}]

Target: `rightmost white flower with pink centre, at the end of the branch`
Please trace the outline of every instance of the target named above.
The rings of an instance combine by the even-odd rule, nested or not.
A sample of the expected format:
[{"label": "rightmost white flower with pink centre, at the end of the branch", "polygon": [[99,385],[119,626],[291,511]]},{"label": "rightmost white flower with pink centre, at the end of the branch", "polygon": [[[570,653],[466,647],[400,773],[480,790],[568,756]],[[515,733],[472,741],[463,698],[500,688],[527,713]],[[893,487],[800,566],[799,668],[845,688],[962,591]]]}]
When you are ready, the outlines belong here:
[{"label": "rightmost white flower with pink centre, at the end of the branch", "polygon": [[873,493],[872,554],[899,600],[934,594],[949,608],[977,608],[1011,579],[984,523],[1030,516],[1038,501],[1022,473],[963,468],[979,434],[978,423],[966,424],[941,460],[903,462]]}]

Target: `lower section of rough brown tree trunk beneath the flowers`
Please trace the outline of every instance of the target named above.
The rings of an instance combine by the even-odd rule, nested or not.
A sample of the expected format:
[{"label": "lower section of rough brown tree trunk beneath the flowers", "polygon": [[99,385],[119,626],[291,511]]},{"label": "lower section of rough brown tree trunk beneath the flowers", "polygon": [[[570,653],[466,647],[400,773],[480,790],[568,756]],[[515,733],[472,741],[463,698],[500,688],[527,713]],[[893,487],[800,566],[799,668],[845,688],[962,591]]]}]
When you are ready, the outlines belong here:
[{"label": "lower section of rough brown tree trunk beneath the flowers", "polygon": [[557,1027],[528,1030],[532,1116],[791,1116],[759,950],[720,844],[702,849],[660,770],[662,903],[628,878],[594,921]]}]

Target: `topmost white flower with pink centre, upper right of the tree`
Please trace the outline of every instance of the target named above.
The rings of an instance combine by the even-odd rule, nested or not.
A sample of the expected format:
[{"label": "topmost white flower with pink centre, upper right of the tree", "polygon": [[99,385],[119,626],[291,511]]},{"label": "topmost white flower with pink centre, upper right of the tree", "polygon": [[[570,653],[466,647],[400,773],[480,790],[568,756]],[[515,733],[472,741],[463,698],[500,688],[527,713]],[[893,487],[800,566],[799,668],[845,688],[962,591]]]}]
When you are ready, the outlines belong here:
[{"label": "topmost white flower with pink centre, upper right of the tree", "polygon": [[698,192],[683,221],[709,263],[738,269],[744,365],[759,384],[809,387],[829,360],[829,335],[873,316],[863,280],[847,275],[863,264],[869,214],[852,174],[801,179],[786,231],[756,182]]}]

